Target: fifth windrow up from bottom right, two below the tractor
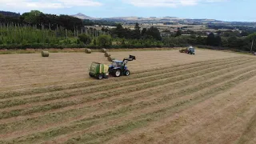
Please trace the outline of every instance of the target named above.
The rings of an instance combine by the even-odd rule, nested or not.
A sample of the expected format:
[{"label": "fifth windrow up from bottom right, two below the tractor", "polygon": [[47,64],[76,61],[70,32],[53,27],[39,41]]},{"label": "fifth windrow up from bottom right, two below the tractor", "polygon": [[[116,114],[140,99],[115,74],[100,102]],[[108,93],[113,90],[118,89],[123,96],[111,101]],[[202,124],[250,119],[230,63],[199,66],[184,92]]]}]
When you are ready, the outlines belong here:
[{"label": "fifth windrow up from bottom right, two below the tractor", "polygon": [[[241,60],[237,60],[238,62]],[[250,61],[250,60],[248,60]],[[191,68],[190,72],[194,72],[197,70],[202,70],[205,67],[212,67],[212,66],[218,66],[218,65],[222,65],[222,64],[226,64],[229,62],[219,62],[219,63],[214,63],[214,64],[209,64],[206,66],[198,66],[198,67],[194,67]],[[167,71],[165,71],[166,73]],[[87,88],[87,89],[82,89],[82,90],[70,90],[69,92],[58,92],[57,94],[46,94],[43,95],[41,97],[32,97],[32,98],[23,98],[23,99],[13,99],[13,100],[7,100],[7,101],[1,101],[0,102],[0,108],[6,108],[6,107],[11,107],[11,106],[18,106],[18,105],[24,105],[26,103],[31,103],[31,102],[44,102],[44,101],[50,101],[50,100],[55,100],[58,98],[69,98],[72,96],[76,96],[76,95],[82,95],[82,94],[92,94],[95,92],[98,92],[98,90],[104,91],[104,90],[111,90],[111,89],[115,89],[118,88],[120,89],[123,86],[132,86],[138,83],[142,83],[142,82],[152,82],[161,78],[168,78],[168,77],[172,77],[172,76],[176,76],[177,74],[185,74],[187,73],[186,70],[180,70],[180,71],[173,71],[171,70],[170,73],[172,74],[157,74],[157,75],[153,75],[146,78],[138,78],[137,80],[133,80],[131,82],[115,82],[113,84],[110,84],[108,86],[97,86],[94,88]]]}]

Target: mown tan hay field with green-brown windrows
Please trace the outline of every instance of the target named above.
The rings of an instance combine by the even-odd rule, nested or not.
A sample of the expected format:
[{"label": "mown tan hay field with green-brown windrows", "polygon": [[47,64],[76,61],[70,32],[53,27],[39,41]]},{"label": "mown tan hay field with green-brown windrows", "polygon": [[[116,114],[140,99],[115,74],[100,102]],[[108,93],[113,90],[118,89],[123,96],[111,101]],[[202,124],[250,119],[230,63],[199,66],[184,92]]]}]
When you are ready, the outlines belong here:
[{"label": "mown tan hay field with green-brown windrows", "polygon": [[129,54],[129,77],[89,78],[102,53],[0,55],[0,143],[256,142],[256,58]]}]

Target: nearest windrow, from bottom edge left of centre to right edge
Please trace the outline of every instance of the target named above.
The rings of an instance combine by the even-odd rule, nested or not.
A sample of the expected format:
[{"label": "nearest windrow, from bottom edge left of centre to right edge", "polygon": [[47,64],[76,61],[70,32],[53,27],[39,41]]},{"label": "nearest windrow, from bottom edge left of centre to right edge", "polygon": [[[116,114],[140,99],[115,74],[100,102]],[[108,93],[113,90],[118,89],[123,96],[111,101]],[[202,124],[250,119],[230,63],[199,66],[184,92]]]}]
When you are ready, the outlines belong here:
[{"label": "nearest windrow, from bottom edge left of centre to right edge", "polygon": [[[242,76],[238,77],[238,78],[235,78],[233,80],[231,80],[230,82],[223,82],[224,84],[222,86],[224,86],[225,88],[222,88],[222,86],[218,86],[216,88],[214,88],[214,90],[210,90],[207,92],[208,96],[202,96],[202,98],[196,98],[195,101],[189,101],[189,103],[193,103],[194,102],[194,105],[197,104],[198,102],[202,102],[204,100],[206,100],[208,97],[214,97],[214,92],[220,92],[220,91],[223,91],[223,90],[226,90],[232,86],[235,86],[237,83],[240,83],[240,82],[243,82],[245,80],[247,80],[248,78],[252,78],[256,75],[256,71],[250,71],[249,73],[246,73],[246,74],[243,74]],[[200,95],[205,95],[205,94],[200,94]],[[206,98],[205,98],[206,97]],[[184,106],[184,104],[186,104],[186,102],[181,102],[179,103],[178,106]],[[185,105],[186,106],[186,105]],[[82,131],[78,131],[78,132],[74,132],[72,134],[68,134],[68,135],[65,135],[65,138],[64,140],[61,138],[61,139],[57,139],[56,141],[54,142],[65,142],[67,140],[67,138],[70,138],[70,141],[68,142],[81,142],[82,140],[86,141],[86,142],[89,142],[90,140],[93,140],[95,138],[102,138],[102,137],[106,137],[107,134],[113,134],[112,136],[114,136],[114,134],[119,134],[120,133],[120,130],[126,130],[126,129],[132,129],[132,128],[129,128],[130,126],[140,126],[140,124],[142,124],[142,126],[147,126],[147,124],[143,124],[144,122],[148,123],[148,122],[154,122],[156,121],[156,119],[158,119],[158,116],[159,115],[162,115],[162,113],[165,113],[165,114],[169,114],[167,113],[167,111],[170,111],[171,110],[171,107],[177,107],[177,106],[168,106],[166,108],[163,108],[161,110],[157,110],[158,112],[153,112],[153,113],[150,113],[150,114],[146,114],[148,115],[148,118],[144,118],[144,116],[139,116],[138,118],[134,118],[135,119],[135,122],[134,121],[128,121],[128,122],[125,122],[125,124],[122,124],[122,125],[118,125],[118,126],[114,126],[114,127],[110,127],[110,126],[107,126],[107,127],[110,127],[106,130],[98,130],[98,128],[95,128],[94,130],[98,131],[98,132],[92,132],[90,131],[89,134],[86,134],[86,131],[88,130],[82,130]],[[152,118],[152,116],[154,115],[154,118]],[[142,118],[142,119],[140,119]],[[114,125],[117,124],[117,123],[114,123]],[[134,127],[136,128],[136,127]],[[74,137],[75,135],[81,135],[80,137],[76,137],[76,138],[72,138]],[[111,137],[111,136],[110,136]],[[85,139],[83,139],[85,138]],[[107,138],[106,138],[107,139]],[[106,139],[103,139],[102,142],[106,142],[105,140]],[[74,140],[74,141],[73,141]],[[78,141],[76,141],[78,140]],[[82,141],[82,142],[84,142]]]}]

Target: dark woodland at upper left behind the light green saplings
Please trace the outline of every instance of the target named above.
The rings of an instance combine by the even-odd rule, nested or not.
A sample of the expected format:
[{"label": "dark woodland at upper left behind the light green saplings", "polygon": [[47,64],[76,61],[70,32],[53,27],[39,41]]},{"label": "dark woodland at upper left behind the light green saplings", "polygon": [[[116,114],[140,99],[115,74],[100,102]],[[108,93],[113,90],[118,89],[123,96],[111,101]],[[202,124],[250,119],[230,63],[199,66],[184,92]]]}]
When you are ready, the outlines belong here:
[{"label": "dark woodland at upper left behind the light green saplings", "polygon": [[115,22],[82,20],[64,14],[43,14],[38,10],[31,10],[22,15],[2,11],[0,12],[0,23],[2,23],[2,25],[8,25],[10,23],[14,25],[30,25],[33,27],[36,26],[38,29],[44,28],[50,30],[56,30],[58,27],[62,26],[64,29],[73,31],[85,29],[84,26],[116,26]]}]

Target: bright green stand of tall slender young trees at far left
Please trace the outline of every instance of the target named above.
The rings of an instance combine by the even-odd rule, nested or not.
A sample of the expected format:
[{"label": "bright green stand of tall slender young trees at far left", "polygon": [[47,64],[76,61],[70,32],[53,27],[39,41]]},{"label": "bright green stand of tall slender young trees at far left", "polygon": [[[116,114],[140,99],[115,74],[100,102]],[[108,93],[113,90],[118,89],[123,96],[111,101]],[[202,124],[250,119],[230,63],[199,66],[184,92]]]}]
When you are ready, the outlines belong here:
[{"label": "bright green stand of tall slender young trees at far left", "polygon": [[58,30],[38,30],[33,26],[0,24],[0,49],[84,47],[72,31],[59,27]]}]

